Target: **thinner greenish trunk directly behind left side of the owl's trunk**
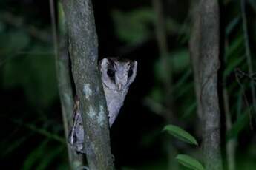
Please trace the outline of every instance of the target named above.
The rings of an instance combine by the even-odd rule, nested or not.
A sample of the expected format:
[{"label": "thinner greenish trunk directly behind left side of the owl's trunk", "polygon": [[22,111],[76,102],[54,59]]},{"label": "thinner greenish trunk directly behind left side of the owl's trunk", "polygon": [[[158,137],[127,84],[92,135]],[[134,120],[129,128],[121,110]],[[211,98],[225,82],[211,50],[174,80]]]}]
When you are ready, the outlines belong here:
[{"label": "thinner greenish trunk directly behind left side of the owl's trunk", "polygon": [[[53,1],[51,1],[53,3]],[[51,5],[53,7],[53,5]],[[63,9],[59,10],[59,50],[56,55],[56,72],[59,86],[59,97],[62,106],[62,119],[65,130],[65,139],[68,138],[68,129],[72,124],[73,113],[73,91],[71,85],[70,62],[68,55],[68,35],[65,25],[65,17],[62,16]],[[53,16],[53,15],[52,15]],[[53,19],[52,19],[53,20]],[[55,22],[56,23],[56,22]],[[56,27],[55,27],[56,30]],[[56,40],[57,41],[57,40]],[[68,146],[68,160],[70,169],[78,169],[83,166],[83,155],[76,152]]]}]

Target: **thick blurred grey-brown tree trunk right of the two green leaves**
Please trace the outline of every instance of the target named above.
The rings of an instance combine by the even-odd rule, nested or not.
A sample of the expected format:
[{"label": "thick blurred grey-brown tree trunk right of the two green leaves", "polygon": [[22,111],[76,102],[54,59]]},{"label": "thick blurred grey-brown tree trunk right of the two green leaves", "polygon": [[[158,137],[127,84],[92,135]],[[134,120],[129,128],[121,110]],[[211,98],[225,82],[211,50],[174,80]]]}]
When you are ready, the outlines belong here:
[{"label": "thick blurred grey-brown tree trunk right of the two green leaves", "polygon": [[223,169],[220,154],[220,106],[217,71],[220,67],[220,21],[217,0],[201,0],[195,10],[190,51],[194,65],[198,109],[203,127],[203,157],[207,170]]}]

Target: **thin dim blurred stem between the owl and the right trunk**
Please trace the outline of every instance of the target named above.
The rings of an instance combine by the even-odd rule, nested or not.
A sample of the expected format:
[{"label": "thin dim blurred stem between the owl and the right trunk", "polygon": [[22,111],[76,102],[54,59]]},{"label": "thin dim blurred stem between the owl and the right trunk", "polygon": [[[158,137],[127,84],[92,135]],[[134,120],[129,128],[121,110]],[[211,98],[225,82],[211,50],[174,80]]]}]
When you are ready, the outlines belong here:
[{"label": "thin dim blurred stem between the owl and the right trunk", "polygon": [[[165,31],[165,17],[163,15],[163,1],[152,0],[152,4],[157,16],[155,21],[155,33],[160,52],[160,61],[165,73],[163,80],[163,85],[165,87],[164,105],[167,109],[163,112],[163,117],[167,123],[173,123],[175,122],[175,116],[174,101],[172,97],[172,70],[171,64],[168,62],[168,44]],[[168,169],[178,169],[177,161],[174,160],[174,156],[177,154],[177,149],[171,144],[171,140],[169,138],[166,139],[166,145],[168,148],[168,160],[170,160],[168,163]]]}]

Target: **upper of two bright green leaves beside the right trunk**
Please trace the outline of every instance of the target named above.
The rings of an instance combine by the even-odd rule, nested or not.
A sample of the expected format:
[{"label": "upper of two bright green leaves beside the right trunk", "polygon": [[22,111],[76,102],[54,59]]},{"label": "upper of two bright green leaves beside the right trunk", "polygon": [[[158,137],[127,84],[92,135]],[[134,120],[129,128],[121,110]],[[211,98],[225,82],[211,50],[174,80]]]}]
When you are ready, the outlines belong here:
[{"label": "upper of two bright green leaves beside the right trunk", "polygon": [[197,140],[188,132],[178,126],[167,125],[164,127],[163,131],[167,131],[170,135],[173,135],[174,137],[177,137],[178,139],[183,140],[186,143],[191,143],[198,146]]}]

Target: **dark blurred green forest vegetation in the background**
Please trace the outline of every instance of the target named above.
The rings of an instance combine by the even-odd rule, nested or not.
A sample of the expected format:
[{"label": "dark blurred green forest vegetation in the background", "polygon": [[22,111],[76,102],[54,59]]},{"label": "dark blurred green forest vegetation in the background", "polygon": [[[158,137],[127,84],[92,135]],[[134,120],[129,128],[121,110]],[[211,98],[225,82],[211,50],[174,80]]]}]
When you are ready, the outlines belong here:
[{"label": "dark blurred green forest vegetation in the background", "polygon": [[[244,30],[240,1],[220,1],[220,104],[224,105],[221,91],[226,89],[232,126],[226,131],[223,118],[223,162],[226,166],[226,143],[234,140],[236,169],[252,170],[256,167],[256,113],[249,82],[253,79],[255,84],[255,76],[248,72],[246,48],[251,52],[250,64],[256,70],[256,1],[247,2],[248,30]],[[167,123],[161,115],[166,109],[165,72],[157,49],[156,15],[151,1],[93,3],[99,53],[112,55],[111,48],[113,54],[139,61],[137,81],[111,132],[116,166],[123,170],[168,169],[165,139],[169,135],[162,132]],[[48,1],[1,0],[0,7],[0,167],[68,169]],[[168,144],[174,145],[179,154],[202,160],[188,50],[191,9],[188,1],[166,0],[163,7],[177,117],[172,123],[193,134],[199,147],[188,146],[174,137]],[[224,108],[222,113],[224,117]],[[178,168],[186,169],[181,165]]]}]

